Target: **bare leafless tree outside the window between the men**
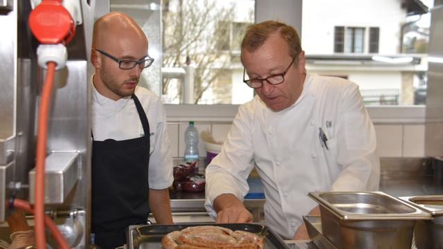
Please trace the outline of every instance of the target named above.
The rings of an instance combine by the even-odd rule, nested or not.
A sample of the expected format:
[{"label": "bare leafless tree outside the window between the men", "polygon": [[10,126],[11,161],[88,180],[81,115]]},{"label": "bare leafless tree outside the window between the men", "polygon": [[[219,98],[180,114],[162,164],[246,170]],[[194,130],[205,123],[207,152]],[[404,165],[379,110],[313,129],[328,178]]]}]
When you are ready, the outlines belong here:
[{"label": "bare leafless tree outside the window between the men", "polygon": [[[231,45],[238,44],[232,25],[235,6],[217,6],[214,0],[163,1],[163,66],[195,66],[194,102],[231,62]],[[163,79],[163,94],[171,79]],[[180,90],[178,96],[181,94]],[[179,98],[179,97],[176,98]]]}]

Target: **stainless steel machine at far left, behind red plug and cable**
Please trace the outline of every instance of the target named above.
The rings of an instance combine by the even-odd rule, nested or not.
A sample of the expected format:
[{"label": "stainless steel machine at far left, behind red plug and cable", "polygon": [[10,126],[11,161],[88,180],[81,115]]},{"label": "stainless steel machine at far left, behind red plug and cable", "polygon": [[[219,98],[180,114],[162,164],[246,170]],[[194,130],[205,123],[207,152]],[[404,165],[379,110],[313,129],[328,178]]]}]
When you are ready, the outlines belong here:
[{"label": "stainless steel machine at far left, behind red plug and cable", "polygon": [[[42,1],[42,3],[45,0]],[[48,3],[52,2],[52,3]],[[66,66],[55,71],[48,111],[45,149],[44,212],[66,239],[69,248],[89,243],[91,124],[89,65],[95,1],[46,1],[70,11],[75,35],[66,42]],[[35,150],[39,100],[46,70],[38,65],[37,40],[29,19],[40,1],[0,1],[0,221],[6,221],[13,199],[35,205]],[[50,9],[41,34],[60,19]],[[42,18],[40,12],[35,19]],[[70,27],[72,29],[72,27]],[[34,33],[34,30],[33,30]],[[51,36],[51,35],[49,35]],[[38,37],[37,37],[38,38]],[[51,42],[48,42],[51,43]],[[31,216],[32,217],[32,216]],[[29,220],[33,225],[33,219]],[[8,230],[0,237],[8,238]],[[47,243],[56,246],[47,236]]]}]

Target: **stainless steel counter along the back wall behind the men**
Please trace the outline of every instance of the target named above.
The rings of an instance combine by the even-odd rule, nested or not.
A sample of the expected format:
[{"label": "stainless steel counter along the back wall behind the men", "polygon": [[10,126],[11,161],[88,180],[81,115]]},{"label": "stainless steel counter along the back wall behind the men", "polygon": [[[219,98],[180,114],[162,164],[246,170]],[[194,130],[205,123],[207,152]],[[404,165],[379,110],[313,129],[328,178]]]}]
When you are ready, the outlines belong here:
[{"label": "stainless steel counter along the back wall behind the men", "polygon": [[[417,196],[443,193],[441,165],[429,158],[381,158],[380,191],[392,196]],[[174,214],[206,216],[204,192],[170,191]],[[254,222],[263,222],[264,199],[245,199],[244,205],[253,214]],[[194,220],[192,220],[194,221]]]}]

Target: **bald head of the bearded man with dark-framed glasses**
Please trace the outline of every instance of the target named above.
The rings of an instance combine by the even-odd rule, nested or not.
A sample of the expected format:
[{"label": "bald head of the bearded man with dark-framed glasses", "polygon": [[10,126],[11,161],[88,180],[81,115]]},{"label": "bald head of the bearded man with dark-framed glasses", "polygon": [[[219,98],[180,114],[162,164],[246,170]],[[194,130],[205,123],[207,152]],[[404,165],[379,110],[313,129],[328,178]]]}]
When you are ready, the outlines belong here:
[{"label": "bald head of the bearded man with dark-framed glasses", "polygon": [[[122,12],[100,17],[94,24],[91,48],[93,84],[98,93],[111,100],[132,95],[143,71],[144,64],[140,63],[146,62],[147,48],[145,33],[131,17]],[[127,68],[127,64],[134,67]]]}]

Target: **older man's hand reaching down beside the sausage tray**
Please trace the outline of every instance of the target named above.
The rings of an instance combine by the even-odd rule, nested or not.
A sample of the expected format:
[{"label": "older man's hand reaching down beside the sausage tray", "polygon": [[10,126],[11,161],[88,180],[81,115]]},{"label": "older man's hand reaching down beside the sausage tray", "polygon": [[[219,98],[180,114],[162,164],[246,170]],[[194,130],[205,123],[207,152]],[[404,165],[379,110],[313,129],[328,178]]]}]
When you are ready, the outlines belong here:
[{"label": "older man's hand reaching down beside the sausage tray", "polygon": [[217,212],[217,223],[246,223],[252,222],[251,212],[246,210],[243,203],[233,194],[221,194],[214,200]]}]

